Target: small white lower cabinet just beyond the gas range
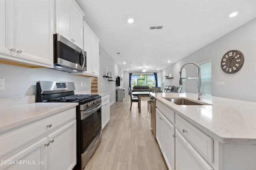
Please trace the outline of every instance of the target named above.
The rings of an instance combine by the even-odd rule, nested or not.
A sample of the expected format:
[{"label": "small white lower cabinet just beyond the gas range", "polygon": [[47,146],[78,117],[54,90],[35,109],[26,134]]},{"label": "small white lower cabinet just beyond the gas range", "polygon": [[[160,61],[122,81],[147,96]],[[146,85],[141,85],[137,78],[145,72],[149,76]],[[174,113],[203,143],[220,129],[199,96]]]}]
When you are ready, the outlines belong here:
[{"label": "small white lower cabinet just beyond the gas range", "polygon": [[110,120],[110,101],[109,95],[102,97],[102,106],[101,106],[101,127],[107,125],[108,121]]}]

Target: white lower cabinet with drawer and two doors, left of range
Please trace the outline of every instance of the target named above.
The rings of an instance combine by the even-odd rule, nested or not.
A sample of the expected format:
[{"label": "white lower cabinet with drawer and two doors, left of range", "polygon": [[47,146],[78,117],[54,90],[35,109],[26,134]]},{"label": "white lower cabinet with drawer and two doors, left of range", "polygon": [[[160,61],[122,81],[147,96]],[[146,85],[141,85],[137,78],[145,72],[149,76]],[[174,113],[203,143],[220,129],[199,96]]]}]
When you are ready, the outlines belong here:
[{"label": "white lower cabinet with drawer and two doors, left of range", "polygon": [[0,170],[72,170],[76,108],[0,135]]}]

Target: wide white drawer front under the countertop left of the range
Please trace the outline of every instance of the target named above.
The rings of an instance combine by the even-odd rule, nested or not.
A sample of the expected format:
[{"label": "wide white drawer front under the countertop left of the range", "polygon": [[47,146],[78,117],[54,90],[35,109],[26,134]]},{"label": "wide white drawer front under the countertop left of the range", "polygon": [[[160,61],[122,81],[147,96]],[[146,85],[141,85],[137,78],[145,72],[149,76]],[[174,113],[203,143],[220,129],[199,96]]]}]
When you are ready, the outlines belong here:
[{"label": "wide white drawer front under the countertop left of the range", "polygon": [[10,151],[18,151],[33,139],[40,138],[43,134],[50,133],[52,129],[73,119],[76,119],[76,107],[0,135],[0,155],[4,156]]}]

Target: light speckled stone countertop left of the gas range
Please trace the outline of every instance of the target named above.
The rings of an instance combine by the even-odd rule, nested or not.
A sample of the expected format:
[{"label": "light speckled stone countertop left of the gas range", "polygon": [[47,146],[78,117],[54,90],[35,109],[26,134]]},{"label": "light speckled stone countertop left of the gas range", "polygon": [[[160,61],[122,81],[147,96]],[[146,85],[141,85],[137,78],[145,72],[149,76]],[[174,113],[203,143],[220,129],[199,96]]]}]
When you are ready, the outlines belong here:
[{"label": "light speckled stone countertop left of the gas range", "polygon": [[78,103],[29,103],[0,108],[0,135],[50,117]]}]

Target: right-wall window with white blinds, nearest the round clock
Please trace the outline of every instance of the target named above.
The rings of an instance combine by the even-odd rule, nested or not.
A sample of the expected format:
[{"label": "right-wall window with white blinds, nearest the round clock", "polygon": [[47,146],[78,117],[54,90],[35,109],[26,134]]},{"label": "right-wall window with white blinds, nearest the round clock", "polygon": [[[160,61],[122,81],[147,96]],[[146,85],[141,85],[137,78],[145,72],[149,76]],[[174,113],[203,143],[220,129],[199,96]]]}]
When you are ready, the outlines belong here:
[{"label": "right-wall window with white blinds, nearest the round clock", "polygon": [[201,69],[201,91],[212,96],[212,61],[199,64]]}]

